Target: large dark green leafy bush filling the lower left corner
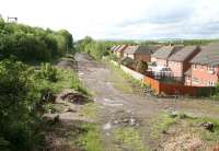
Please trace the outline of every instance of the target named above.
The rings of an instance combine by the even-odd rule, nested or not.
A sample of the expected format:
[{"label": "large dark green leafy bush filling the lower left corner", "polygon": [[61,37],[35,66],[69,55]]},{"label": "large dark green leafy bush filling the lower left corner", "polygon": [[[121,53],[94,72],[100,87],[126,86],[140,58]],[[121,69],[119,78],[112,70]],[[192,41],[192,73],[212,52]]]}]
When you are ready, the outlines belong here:
[{"label": "large dark green leafy bush filling the lower left corner", "polygon": [[[35,112],[37,91],[32,82],[34,71],[22,62],[0,62],[0,138],[5,149],[28,151],[37,149],[41,133]],[[1,149],[0,147],[0,150]]]}]

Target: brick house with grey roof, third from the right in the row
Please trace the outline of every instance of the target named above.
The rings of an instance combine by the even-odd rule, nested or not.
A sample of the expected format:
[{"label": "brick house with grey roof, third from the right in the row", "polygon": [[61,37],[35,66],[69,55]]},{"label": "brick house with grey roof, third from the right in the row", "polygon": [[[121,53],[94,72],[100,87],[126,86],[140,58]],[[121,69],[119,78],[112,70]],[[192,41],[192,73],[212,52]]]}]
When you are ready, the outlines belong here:
[{"label": "brick house with grey roof, third from the right in the row", "polygon": [[159,48],[153,55],[151,55],[151,61],[155,62],[157,66],[168,67],[168,58],[180,48],[182,47],[163,46]]}]

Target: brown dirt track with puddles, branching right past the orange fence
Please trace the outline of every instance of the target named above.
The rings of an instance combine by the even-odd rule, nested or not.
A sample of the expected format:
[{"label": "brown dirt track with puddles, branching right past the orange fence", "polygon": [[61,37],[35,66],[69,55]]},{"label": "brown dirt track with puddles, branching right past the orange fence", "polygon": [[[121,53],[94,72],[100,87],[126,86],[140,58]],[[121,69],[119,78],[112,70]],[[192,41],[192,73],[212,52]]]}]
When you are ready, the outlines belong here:
[{"label": "brown dirt track with puddles, branching right past the orange fence", "polygon": [[[148,100],[146,96],[140,96],[135,93],[126,94],[114,86],[111,80],[112,71],[103,63],[94,61],[85,54],[77,54],[76,60],[78,62],[78,73],[82,82],[94,93],[94,101],[99,106],[99,121],[103,127],[103,135],[106,150],[125,150],[115,144],[114,138],[111,137],[112,121],[119,112],[130,113],[130,116],[140,120],[138,129],[141,131],[141,138],[146,146],[150,148],[159,148],[159,142],[153,142],[148,136],[150,132],[150,121],[159,113],[163,111],[176,111],[192,114],[195,116],[214,116],[218,118],[217,102],[206,101],[177,101],[175,105],[174,100]],[[110,123],[111,124],[111,123]]]}]

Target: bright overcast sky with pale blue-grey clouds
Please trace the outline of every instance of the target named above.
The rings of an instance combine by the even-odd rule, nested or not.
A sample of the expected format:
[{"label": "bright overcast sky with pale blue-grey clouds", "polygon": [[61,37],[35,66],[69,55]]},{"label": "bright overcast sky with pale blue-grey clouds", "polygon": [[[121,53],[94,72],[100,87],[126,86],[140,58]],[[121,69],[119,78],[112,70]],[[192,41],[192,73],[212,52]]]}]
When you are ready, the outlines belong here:
[{"label": "bright overcast sky with pale blue-grey clouds", "polygon": [[219,0],[0,0],[0,14],[76,39],[219,37]]}]

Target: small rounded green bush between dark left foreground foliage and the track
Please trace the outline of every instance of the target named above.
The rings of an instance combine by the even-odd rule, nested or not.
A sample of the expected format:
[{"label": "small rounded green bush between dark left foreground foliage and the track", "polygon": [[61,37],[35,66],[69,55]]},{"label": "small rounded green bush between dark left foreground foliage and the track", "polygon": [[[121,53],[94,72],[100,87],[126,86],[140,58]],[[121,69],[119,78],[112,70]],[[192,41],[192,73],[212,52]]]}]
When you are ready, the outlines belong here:
[{"label": "small rounded green bush between dark left foreground foliage and the track", "polygon": [[55,67],[51,67],[50,63],[42,63],[41,66],[41,71],[39,71],[39,77],[42,79],[56,82],[58,80],[58,72]]}]

